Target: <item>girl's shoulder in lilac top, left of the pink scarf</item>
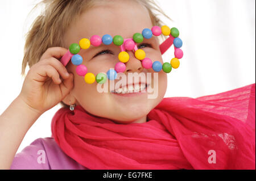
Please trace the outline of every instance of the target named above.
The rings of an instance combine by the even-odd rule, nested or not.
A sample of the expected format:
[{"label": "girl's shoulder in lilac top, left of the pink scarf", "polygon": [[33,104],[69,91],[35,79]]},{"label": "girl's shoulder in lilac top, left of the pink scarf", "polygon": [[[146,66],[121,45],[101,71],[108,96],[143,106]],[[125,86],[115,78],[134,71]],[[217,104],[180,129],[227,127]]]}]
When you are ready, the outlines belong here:
[{"label": "girl's shoulder in lilac top, left of the pink scarf", "polygon": [[26,146],[13,159],[11,169],[86,169],[65,154],[54,138],[38,138]]}]

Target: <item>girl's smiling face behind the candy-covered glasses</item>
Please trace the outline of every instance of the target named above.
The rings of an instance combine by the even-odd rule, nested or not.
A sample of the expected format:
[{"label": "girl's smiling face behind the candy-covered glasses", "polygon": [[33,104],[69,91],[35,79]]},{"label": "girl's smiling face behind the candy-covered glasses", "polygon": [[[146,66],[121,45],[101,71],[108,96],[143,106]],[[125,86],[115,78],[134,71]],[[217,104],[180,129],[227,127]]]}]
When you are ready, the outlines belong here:
[{"label": "girl's smiling face behind the candy-covered glasses", "polygon": [[[65,47],[72,43],[79,43],[82,38],[90,38],[93,35],[103,36],[109,34],[112,37],[120,35],[123,39],[132,38],[134,33],[142,32],[144,28],[152,27],[150,15],[146,7],[135,1],[101,1],[98,5],[84,12],[77,22],[73,22],[65,33]],[[143,44],[146,43],[146,44]],[[159,50],[158,39],[153,36],[151,39],[144,39],[142,44],[137,44],[139,49],[146,52],[146,57],[163,63]],[[102,50],[106,50],[103,51]],[[101,52],[100,54],[98,54]],[[119,62],[118,54],[120,48],[113,43],[111,45],[101,44],[99,47],[91,46],[89,49],[82,49],[80,55],[88,72],[97,75],[106,73],[114,68]],[[154,86],[154,71],[144,69],[141,61],[135,58],[133,51],[128,51],[130,60],[126,63],[127,73],[152,73],[150,82]],[[67,65],[69,72],[74,75],[74,87],[70,94],[63,100],[65,104],[75,103],[82,106],[86,111],[96,116],[112,119],[117,123],[143,123],[146,115],[163,99],[167,88],[167,76],[162,70],[158,73],[158,95],[154,99],[148,99],[147,91],[141,94],[116,94],[110,92],[98,92],[97,82],[85,83],[84,77],[76,73],[76,67],[71,62]],[[126,77],[127,78],[127,77]],[[128,80],[128,78],[127,78]],[[119,80],[115,80],[116,83]],[[106,83],[110,85],[108,80]],[[134,82],[133,82],[134,83]],[[156,84],[157,85],[157,84]],[[109,86],[110,87],[110,86]]]}]

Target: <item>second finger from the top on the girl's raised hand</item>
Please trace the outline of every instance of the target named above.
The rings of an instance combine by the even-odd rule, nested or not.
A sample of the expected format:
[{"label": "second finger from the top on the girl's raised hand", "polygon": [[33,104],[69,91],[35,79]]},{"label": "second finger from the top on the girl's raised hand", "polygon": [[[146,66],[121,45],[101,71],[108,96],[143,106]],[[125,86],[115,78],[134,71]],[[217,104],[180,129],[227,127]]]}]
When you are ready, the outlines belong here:
[{"label": "second finger from the top on the girl's raised hand", "polygon": [[54,57],[48,58],[46,60],[42,60],[42,64],[51,65],[53,68],[55,68],[59,72],[59,74],[61,75],[61,77],[63,77],[63,79],[66,79],[69,77],[68,70],[65,68],[63,64],[61,64],[59,60],[57,60]]}]

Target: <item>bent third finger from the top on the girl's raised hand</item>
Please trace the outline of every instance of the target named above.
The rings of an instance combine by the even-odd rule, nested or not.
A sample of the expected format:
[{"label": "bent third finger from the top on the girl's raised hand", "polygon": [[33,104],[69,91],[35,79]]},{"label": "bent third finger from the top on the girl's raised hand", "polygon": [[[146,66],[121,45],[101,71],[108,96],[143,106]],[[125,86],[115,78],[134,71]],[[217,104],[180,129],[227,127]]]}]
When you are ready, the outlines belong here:
[{"label": "bent third finger from the top on the girl's raised hand", "polygon": [[51,65],[40,65],[36,71],[35,80],[44,82],[48,77],[52,78],[52,81],[56,84],[61,83],[60,75],[55,68]]}]

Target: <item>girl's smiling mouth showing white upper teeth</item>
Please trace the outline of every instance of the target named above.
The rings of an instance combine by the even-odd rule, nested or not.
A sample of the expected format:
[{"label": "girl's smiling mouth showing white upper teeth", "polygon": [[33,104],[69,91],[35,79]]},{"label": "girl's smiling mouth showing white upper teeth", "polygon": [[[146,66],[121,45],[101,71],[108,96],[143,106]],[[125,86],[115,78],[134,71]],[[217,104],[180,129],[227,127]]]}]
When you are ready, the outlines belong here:
[{"label": "girl's smiling mouth showing white upper teeth", "polygon": [[121,88],[117,88],[114,91],[110,91],[113,94],[131,94],[131,93],[138,93],[138,92],[146,92],[147,89],[146,83],[135,83],[123,86]]}]

